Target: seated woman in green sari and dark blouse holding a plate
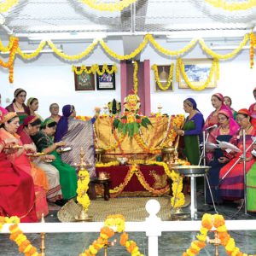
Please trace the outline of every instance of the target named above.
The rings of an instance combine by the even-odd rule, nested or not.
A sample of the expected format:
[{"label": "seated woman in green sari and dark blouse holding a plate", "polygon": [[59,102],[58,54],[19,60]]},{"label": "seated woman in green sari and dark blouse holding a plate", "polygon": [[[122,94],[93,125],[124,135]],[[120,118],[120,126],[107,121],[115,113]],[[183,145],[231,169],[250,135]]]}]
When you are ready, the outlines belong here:
[{"label": "seated woman in green sari and dark blouse holding a plate", "polygon": [[63,142],[53,143],[51,137],[55,134],[56,125],[54,120],[45,119],[41,126],[42,130],[35,136],[32,136],[32,140],[39,152],[55,156],[55,160],[51,162],[51,165],[55,166],[60,173],[62,196],[63,199],[68,200],[77,195],[77,174],[72,166],[67,165],[61,160],[60,155],[56,151],[56,148],[66,144]]}]

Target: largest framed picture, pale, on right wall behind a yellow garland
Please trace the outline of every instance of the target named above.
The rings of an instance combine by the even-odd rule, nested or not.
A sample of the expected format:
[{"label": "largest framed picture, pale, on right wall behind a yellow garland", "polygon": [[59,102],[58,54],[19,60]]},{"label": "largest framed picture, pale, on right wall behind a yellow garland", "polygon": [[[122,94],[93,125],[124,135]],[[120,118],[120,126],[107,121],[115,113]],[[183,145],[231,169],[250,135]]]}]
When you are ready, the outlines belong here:
[{"label": "largest framed picture, pale, on right wall behind a yellow garland", "polygon": [[[212,59],[184,59],[184,70],[188,76],[188,79],[194,86],[200,87],[205,84],[212,67]],[[212,80],[207,85],[206,88],[216,88],[217,87],[217,70],[213,71]],[[178,88],[179,89],[189,89],[189,85],[183,79],[183,75],[180,73]]]}]

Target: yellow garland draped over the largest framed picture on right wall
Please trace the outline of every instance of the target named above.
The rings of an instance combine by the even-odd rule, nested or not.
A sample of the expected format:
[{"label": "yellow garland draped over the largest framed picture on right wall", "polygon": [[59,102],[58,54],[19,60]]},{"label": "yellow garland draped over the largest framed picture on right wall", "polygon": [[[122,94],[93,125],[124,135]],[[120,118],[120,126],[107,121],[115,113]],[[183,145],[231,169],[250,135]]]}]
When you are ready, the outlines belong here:
[{"label": "yellow garland draped over the largest framed picture on right wall", "polygon": [[182,59],[177,59],[177,65],[176,65],[176,81],[179,81],[180,76],[182,75],[184,81],[186,84],[189,85],[189,87],[192,90],[204,90],[207,88],[207,86],[211,83],[213,75],[216,73],[217,79],[219,77],[219,66],[218,66],[218,59],[213,59],[212,61],[212,67],[209,73],[209,76],[207,78],[207,81],[205,84],[201,84],[201,86],[197,86],[189,81],[189,78],[187,74],[185,73],[184,64]]}]

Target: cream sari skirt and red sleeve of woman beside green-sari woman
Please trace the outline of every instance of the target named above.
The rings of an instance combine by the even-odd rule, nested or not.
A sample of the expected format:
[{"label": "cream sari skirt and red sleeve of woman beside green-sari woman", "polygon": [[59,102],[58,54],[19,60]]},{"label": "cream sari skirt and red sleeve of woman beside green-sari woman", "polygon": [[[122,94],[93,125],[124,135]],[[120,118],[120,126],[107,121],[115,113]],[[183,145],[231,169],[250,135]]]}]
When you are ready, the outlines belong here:
[{"label": "cream sari skirt and red sleeve of woman beside green-sari woman", "polygon": [[[32,144],[35,146],[35,144],[32,141],[32,138],[26,133],[24,129],[20,129],[20,131],[18,131],[18,134],[20,135],[20,140],[23,144]],[[48,183],[49,183],[49,190],[47,191],[47,194],[46,194],[47,200],[51,202],[61,200],[62,193],[61,193],[59,171],[55,168],[55,166],[52,166],[51,164],[38,159],[34,160],[34,164],[39,168],[41,168],[47,175]]]}]

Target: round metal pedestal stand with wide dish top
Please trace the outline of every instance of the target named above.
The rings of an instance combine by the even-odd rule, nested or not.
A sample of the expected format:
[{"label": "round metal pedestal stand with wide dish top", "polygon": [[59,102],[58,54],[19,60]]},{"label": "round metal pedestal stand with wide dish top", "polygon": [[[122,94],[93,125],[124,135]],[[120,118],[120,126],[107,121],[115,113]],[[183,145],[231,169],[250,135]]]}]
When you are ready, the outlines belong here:
[{"label": "round metal pedestal stand with wide dish top", "polygon": [[173,167],[180,174],[186,177],[190,177],[190,195],[191,195],[191,207],[190,215],[192,219],[197,218],[197,199],[196,199],[196,177],[203,177],[207,174],[210,166],[177,166]]}]

